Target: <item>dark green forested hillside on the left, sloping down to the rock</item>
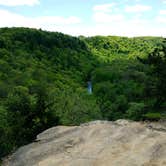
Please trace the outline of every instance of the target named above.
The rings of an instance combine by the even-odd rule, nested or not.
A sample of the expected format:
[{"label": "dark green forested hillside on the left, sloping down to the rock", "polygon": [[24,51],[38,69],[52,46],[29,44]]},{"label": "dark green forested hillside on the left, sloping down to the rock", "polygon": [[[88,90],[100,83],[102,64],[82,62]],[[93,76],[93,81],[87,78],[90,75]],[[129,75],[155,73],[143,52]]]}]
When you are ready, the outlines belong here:
[{"label": "dark green forested hillside on the left, sloping down to the rock", "polygon": [[0,156],[50,126],[100,118],[95,98],[86,92],[96,64],[78,38],[0,29]]}]

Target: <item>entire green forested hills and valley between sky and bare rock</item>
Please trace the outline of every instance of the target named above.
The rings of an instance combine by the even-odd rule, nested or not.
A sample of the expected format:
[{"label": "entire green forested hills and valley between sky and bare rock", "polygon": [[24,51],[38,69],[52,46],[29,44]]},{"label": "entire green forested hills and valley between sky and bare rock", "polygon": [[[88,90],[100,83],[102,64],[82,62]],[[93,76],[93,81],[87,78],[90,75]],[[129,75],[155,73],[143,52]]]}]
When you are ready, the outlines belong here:
[{"label": "entire green forested hills and valley between sky and bare rock", "polygon": [[159,37],[0,29],[0,156],[55,125],[161,119],[165,52]]}]

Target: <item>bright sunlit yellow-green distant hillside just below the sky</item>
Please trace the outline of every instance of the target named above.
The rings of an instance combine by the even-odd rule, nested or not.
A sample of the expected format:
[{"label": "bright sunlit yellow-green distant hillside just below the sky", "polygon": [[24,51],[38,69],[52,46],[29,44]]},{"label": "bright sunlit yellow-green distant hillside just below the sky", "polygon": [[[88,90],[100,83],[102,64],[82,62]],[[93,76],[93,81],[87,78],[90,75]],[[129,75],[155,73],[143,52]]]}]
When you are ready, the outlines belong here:
[{"label": "bright sunlit yellow-green distant hillside just below the sky", "polygon": [[84,38],[93,54],[103,61],[147,57],[163,41],[161,37],[95,36]]}]

